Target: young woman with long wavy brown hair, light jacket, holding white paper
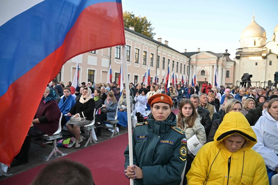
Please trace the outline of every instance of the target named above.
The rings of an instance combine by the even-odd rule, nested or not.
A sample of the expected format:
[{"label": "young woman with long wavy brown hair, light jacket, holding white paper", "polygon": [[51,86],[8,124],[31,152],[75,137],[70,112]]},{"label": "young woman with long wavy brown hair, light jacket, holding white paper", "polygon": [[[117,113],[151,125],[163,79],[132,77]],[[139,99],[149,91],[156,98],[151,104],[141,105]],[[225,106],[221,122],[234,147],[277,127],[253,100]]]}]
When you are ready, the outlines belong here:
[{"label": "young woman with long wavy brown hair, light jacket, holding white paper", "polygon": [[[190,139],[196,134],[196,137],[202,145],[206,142],[206,132],[204,126],[201,124],[201,117],[196,112],[191,100],[182,100],[179,107],[180,111],[177,114],[177,127],[185,131],[186,139]],[[186,174],[190,170],[194,155],[189,151],[187,155],[187,163],[185,166],[185,173],[183,184],[186,185]]]}]

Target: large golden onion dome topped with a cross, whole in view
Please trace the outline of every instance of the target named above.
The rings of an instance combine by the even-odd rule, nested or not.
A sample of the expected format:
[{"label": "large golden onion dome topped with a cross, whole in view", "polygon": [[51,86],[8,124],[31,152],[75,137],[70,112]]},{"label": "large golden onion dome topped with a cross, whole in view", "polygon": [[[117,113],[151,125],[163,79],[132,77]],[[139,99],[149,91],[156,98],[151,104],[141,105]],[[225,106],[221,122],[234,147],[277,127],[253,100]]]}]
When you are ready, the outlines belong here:
[{"label": "large golden onion dome topped with a cross, whole in view", "polygon": [[248,37],[266,37],[266,30],[256,23],[254,17],[251,23],[240,34],[240,39]]}]

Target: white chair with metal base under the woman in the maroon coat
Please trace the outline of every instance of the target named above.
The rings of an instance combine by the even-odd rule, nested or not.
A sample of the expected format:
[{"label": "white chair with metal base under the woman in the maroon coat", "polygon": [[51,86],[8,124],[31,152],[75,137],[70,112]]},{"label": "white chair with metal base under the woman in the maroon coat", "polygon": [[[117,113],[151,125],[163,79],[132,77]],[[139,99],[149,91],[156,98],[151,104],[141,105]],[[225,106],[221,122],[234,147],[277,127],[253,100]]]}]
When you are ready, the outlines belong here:
[{"label": "white chair with metal base under the woman in the maroon coat", "polygon": [[49,157],[46,160],[49,160],[52,155],[54,154],[54,156],[57,156],[57,152],[61,155],[65,155],[63,152],[61,152],[58,148],[57,148],[57,139],[62,137],[62,134],[60,133],[62,130],[62,126],[61,126],[61,120],[63,117],[63,113],[61,113],[60,119],[59,119],[59,126],[58,126],[58,130],[52,134],[51,136],[45,134],[42,135],[41,138],[46,139],[48,141],[52,141],[53,140],[53,150],[50,153]]}]

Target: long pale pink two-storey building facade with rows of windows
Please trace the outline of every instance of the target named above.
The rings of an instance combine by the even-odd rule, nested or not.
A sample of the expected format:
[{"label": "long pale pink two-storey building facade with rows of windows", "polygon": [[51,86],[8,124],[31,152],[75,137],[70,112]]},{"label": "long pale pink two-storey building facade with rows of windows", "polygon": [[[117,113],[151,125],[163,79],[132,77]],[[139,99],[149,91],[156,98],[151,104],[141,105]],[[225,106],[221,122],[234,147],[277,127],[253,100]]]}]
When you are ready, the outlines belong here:
[{"label": "long pale pink two-storey building facade with rows of windows", "polygon": [[[125,28],[127,46],[127,66],[129,82],[141,83],[148,66],[150,66],[151,82],[154,82],[157,74],[158,82],[167,76],[167,67],[177,76],[177,81],[184,81],[188,76],[189,57],[170,48],[168,41],[161,43],[161,38],[153,40],[131,29]],[[67,61],[60,73],[53,80],[59,83],[73,81],[76,70],[76,62],[79,63],[79,84],[81,82],[108,82],[109,66],[112,69],[112,81],[118,82],[120,64],[122,61],[122,47],[115,46],[104,48],[78,55]]]}]

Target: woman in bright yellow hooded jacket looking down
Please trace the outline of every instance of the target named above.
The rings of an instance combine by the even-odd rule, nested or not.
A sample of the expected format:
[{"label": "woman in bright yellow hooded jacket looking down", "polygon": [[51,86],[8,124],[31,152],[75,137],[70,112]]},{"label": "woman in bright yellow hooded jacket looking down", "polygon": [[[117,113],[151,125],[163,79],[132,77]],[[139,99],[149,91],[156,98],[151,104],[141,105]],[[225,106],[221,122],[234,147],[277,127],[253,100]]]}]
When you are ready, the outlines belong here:
[{"label": "woman in bright yellow hooded jacket looking down", "polygon": [[264,159],[252,149],[256,138],[242,113],[227,113],[214,141],[194,158],[186,175],[188,185],[269,184]]}]

